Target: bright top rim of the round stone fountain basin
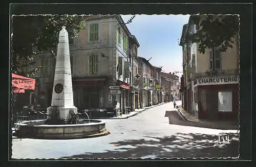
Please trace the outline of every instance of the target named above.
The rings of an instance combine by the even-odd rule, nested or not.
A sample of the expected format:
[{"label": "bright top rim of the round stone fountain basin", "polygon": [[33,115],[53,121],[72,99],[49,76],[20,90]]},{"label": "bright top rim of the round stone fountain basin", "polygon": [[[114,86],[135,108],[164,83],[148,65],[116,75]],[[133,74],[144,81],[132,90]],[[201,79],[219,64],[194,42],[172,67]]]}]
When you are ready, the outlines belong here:
[{"label": "bright top rim of the round stone fountain basin", "polygon": [[[79,119],[79,120],[88,120],[88,119]],[[31,121],[23,121],[22,123],[20,123],[20,126],[32,126],[32,127],[79,127],[79,126],[91,126],[91,125],[100,125],[100,124],[105,124],[105,121],[101,121],[101,120],[91,120],[90,121],[100,121],[98,123],[86,123],[86,124],[62,124],[62,125],[28,125],[25,123],[28,122],[38,122],[38,121],[45,121],[45,120],[31,120]],[[89,121],[89,120],[88,120]]]}]

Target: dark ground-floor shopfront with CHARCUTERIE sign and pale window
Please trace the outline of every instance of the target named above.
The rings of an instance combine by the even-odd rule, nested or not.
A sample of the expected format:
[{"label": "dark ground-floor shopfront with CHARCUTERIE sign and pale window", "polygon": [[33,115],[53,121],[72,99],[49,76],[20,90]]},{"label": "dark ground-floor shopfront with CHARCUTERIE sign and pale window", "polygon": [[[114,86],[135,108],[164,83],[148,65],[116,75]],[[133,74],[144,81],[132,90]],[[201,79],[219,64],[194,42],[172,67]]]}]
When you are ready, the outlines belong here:
[{"label": "dark ground-floor shopfront with CHARCUTERIE sign and pale window", "polygon": [[236,121],[239,112],[239,77],[217,76],[194,81],[194,109],[199,119]]}]

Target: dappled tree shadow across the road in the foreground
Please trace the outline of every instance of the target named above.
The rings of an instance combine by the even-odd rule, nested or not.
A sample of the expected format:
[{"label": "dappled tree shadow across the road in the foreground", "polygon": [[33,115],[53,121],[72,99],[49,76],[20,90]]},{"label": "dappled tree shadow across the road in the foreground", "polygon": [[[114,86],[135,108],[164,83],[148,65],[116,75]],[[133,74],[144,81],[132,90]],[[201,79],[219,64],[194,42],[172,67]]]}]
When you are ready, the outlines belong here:
[{"label": "dappled tree shadow across the road in the foreground", "polygon": [[228,158],[239,156],[239,134],[220,133],[229,136],[229,142],[214,147],[217,135],[176,133],[172,136],[111,142],[114,150],[104,153],[84,153],[63,158]]}]

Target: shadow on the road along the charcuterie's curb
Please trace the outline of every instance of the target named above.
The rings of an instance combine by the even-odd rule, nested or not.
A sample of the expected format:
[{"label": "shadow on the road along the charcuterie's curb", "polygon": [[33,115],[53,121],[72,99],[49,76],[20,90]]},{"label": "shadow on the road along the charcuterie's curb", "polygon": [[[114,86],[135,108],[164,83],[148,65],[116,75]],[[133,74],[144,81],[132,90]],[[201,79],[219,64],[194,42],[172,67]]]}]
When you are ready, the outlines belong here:
[{"label": "shadow on the road along the charcuterie's curb", "polygon": [[[228,127],[228,126],[219,125],[219,124],[189,122],[189,121],[186,121],[185,118],[177,110],[166,111],[164,116],[169,118],[169,124],[174,124],[174,125],[210,128],[210,129],[222,129],[222,130],[227,130],[227,127]],[[228,130],[238,130],[238,128],[239,128],[238,125],[232,126],[232,127],[229,126]]]}]

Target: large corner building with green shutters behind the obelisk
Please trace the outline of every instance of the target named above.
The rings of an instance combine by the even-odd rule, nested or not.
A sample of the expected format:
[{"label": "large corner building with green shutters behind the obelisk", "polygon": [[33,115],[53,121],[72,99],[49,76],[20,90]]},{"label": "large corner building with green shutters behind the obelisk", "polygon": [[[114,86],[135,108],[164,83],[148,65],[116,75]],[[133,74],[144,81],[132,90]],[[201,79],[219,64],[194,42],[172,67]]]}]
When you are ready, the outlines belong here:
[{"label": "large corner building with green shutters behind the obelisk", "polygon": [[[120,15],[86,16],[85,29],[70,45],[74,105],[78,109],[96,109],[99,114],[127,112],[130,107],[132,64],[129,37],[132,36]],[[36,94],[42,107],[49,107],[55,60],[50,54],[38,54],[42,68],[35,74]],[[121,93],[110,86],[119,86]]]}]

